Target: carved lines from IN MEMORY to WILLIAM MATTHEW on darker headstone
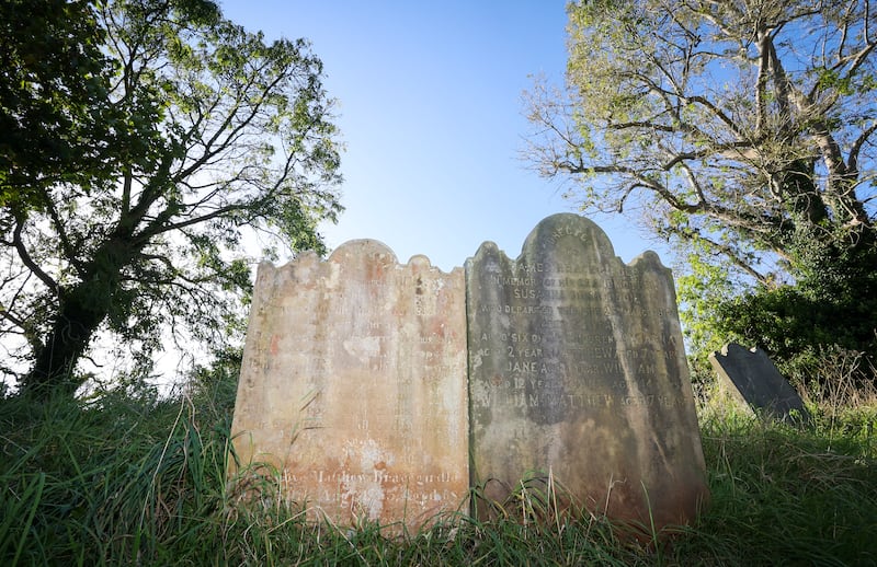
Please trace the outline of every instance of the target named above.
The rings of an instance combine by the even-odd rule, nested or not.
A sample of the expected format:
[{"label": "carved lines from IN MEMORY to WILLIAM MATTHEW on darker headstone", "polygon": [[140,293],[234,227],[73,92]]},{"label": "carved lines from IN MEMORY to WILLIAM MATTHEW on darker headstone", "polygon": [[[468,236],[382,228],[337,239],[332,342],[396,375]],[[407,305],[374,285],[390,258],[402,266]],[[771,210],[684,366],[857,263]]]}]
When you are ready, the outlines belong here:
[{"label": "carved lines from IN MEMORY to WILLIAM MATTHEW on darker headstone", "polygon": [[[533,333],[501,332],[499,334],[481,333],[478,355],[491,356],[491,349],[503,360],[503,380],[494,380],[492,396],[481,400],[487,405],[492,403],[512,403],[516,405],[536,406],[612,406],[618,405],[653,405],[665,407],[677,405],[683,400],[660,393],[627,395],[624,375],[625,366],[619,357],[634,361],[634,370],[641,384],[648,389],[654,383],[659,368],[658,357],[675,359],[675,340],[673,335],[661,338],[661,349],[654,350],[652,337],[646,333],[634,332],[627,338],[633,345],[619,351],[612,332],[608,308],[597,304],[601,300],[600,287],[604,292],[622,290],[616,294],[622,302],[620,312],[647,317],[650,313],[639,306],[639,297],[633,293],[637,281],[619,278],[616,282],[607,271],[574,274],[574,265],[560,266],[565,277],[555,277],[558,270],[544,263],[536,265],[529,277],[491,276],[489,282],[497,286],[500,297],[523,302],[523,304],[481,305],[482,310],[494,310],[510,315],[526,315],[528,328]],[[625,292],[626,291],[626,292]],[[650,292],[648,288],[643,289]],[[585,303],[582,305],[582,303]],[[659,317],[668,314],[658,311]],[[561,325],[554,322],[578,319],[581,321],[580,332],[565,332]],[[645,346],[640,346],[645,345]],[[589,394],[563,394],[554,397],[542,393],[542,389],[555,382],[569,382],[570,377],[579,385],[589,386]],[[526,394],[531,390],[536,393]],[[602,390],[602,391],[601,391]],[[566,387],[565,387],[566,391]]]}]

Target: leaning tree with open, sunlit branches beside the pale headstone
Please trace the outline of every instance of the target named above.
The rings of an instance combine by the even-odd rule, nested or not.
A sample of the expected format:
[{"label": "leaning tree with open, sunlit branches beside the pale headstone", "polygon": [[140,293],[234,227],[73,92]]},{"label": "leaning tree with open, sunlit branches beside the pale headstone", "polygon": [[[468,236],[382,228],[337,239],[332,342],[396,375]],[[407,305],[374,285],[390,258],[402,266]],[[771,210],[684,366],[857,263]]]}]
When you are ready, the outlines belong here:
[{"label": "leaning tree with open, sunlit branches beside the pale headstone", "polygon": [[24,91],[69,117],[58,131],[99,132],[67,141],[88,154],[96,140],[100,159],[55,166],[46,151],[20,166],[26,206],[0,202],[0,336],[24,337],[21,385],[37,395],[76,390],[102,329],[143,363],[162,334],[218,348],[251,286],[244,234],[266,235],[266,254],[322,252],[317,224],[340,210],[331,101],[307,42],[266,44],[205,0],[90,5],[84,35],[107,60],[78,36],[91,70],[49,69]]}]

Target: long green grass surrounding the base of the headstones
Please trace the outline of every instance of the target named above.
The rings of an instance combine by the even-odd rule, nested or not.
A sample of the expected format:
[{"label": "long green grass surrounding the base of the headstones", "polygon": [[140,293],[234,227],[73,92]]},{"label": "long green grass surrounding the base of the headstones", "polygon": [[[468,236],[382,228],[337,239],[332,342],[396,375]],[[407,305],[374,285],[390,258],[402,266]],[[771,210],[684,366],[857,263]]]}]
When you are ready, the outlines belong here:
[{"label": "long green grass surrounding the base of the headstones", "polygon": [[174,401],[11,397],[0,401],[0,564],[877,565],[875,400],[811,400],[806,430],[704,409],[709,509],[646,545],[590,514],[349,532],[305,522],[271,475],[243,506],[226,490],[234,384]]}]

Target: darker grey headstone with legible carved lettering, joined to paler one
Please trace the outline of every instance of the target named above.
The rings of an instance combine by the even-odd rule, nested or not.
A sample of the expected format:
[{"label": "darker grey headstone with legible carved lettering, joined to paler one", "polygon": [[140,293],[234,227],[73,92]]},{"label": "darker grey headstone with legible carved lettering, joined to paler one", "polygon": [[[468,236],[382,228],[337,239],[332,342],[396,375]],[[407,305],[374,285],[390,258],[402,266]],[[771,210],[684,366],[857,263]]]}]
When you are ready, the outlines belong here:
[{"label": "darker grey headstone with legible carved lettering, joined to paler one", "polygon": [[482,244],[466,293],[471,475],[486,501],[538,472],[562,505],[615,520],[695,517],[704,456],[673,280],[654,253],[626,266],[596,224],[555,215],[517,261]]}]

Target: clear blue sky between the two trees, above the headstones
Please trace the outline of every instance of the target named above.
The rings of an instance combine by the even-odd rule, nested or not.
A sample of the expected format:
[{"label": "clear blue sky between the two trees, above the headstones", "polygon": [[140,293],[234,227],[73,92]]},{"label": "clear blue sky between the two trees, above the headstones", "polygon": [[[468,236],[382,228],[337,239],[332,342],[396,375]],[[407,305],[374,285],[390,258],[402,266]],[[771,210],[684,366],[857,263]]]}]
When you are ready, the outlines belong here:
[{"label": "clear blue sky between the two trees, above the headstones", "polygon": [[[219,1],[267,39],[310,39],[323,61],[345,146],[346,210],[322,230],[331,248],[376,239],[447,271],[488,240],[516,257],[539,220],[574,211],[520,159],[523,92],[534,76],[562,81],[565,0]],[[653,244],[593,220],[625,262]]]}]

